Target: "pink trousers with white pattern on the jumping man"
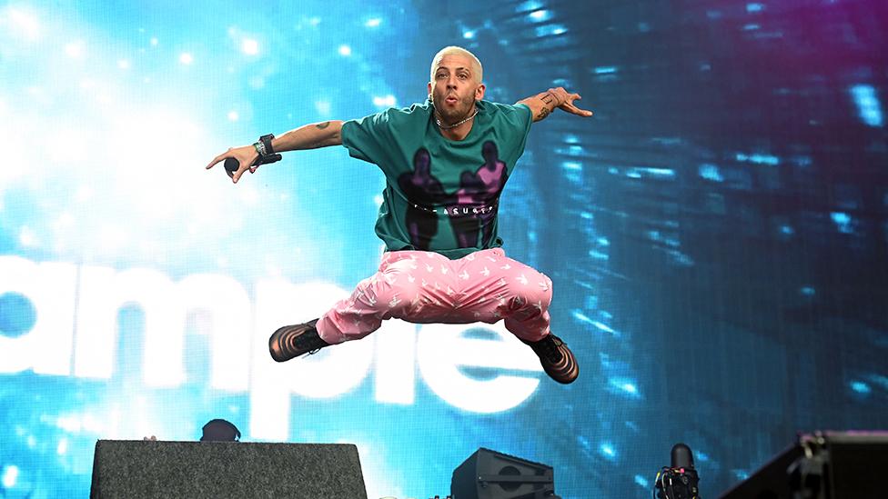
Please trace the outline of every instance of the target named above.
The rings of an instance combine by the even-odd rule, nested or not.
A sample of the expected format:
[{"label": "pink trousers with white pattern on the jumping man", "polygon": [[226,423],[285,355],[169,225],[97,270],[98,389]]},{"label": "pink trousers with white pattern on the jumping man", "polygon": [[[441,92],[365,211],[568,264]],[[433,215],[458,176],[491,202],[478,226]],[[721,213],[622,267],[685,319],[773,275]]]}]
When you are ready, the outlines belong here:
[{"label": "pink trousers with white pattern on the jumping man", "polygon": [[358,283],[354,293],[318,320],[318,335],[328,344],[357,340],[382,321],[494,324],[522,340],[549,334],[552,281],[545,274],[507,257],[501,248],[459,260],[426,251],[383,255],[379,270]]}]

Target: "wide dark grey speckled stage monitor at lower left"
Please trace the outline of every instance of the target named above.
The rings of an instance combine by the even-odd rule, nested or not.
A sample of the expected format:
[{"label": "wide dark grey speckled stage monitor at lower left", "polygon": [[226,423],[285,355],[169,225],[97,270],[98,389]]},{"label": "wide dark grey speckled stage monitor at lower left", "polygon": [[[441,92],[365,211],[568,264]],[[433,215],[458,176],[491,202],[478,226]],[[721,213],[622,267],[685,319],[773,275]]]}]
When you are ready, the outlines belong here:
[{"label": "wide dark grey speckled stage monitor at lower left", "polygon": [[99,440],[91,499],[367,499],[350,444]]}]

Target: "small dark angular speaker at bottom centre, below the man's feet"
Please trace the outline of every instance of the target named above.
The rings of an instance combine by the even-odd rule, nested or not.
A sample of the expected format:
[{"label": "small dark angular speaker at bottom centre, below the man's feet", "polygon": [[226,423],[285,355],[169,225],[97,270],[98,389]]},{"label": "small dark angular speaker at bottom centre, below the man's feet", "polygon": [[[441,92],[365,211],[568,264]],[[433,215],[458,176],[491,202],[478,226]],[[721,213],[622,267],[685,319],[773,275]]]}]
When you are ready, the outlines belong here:
[{"label": "small dark angular speaker at bottom centre, below the man's feet", "polygon": [[555,494],[551,466],[478,449],[453,470],[453,499],[541,499]]}]

